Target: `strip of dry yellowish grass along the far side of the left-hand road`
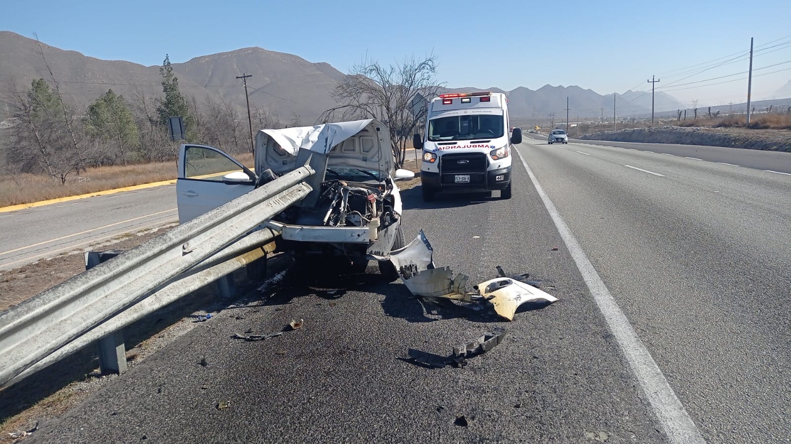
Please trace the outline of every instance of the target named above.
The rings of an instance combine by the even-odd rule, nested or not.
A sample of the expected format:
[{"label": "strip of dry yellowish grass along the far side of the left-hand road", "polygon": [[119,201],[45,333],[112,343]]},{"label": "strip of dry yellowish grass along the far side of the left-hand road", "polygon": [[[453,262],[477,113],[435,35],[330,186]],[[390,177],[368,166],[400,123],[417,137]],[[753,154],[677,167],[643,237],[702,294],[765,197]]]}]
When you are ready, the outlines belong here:
[{"label": "strip of dry yellowish grass along the far side of the left-hand road", "polygon": [[[237,156],[237,160],[246,167],[253,166],[253,156],[250,153]],[[70,176],[65,184],[61,184],[59,179],[46,175],[0,175],[0,190],[2,190],[0,192],[0,207],[171,179],[176,179],[176,160],[126,167],[89,168],[81,175]]]}]

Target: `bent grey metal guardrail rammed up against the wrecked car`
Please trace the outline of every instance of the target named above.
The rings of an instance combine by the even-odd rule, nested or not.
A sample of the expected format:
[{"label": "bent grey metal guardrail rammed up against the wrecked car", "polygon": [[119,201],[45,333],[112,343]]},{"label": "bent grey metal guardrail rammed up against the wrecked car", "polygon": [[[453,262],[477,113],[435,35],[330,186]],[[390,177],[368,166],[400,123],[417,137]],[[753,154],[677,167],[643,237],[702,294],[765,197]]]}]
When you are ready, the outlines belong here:
[{"label": "bent grey metal guardrail rammed up against the wrecked car", "polygon": [[255,229],[305,198],[314,172],[297,168],[0,313],[0,386],[240,268],[239,254],[278,233]]}]

